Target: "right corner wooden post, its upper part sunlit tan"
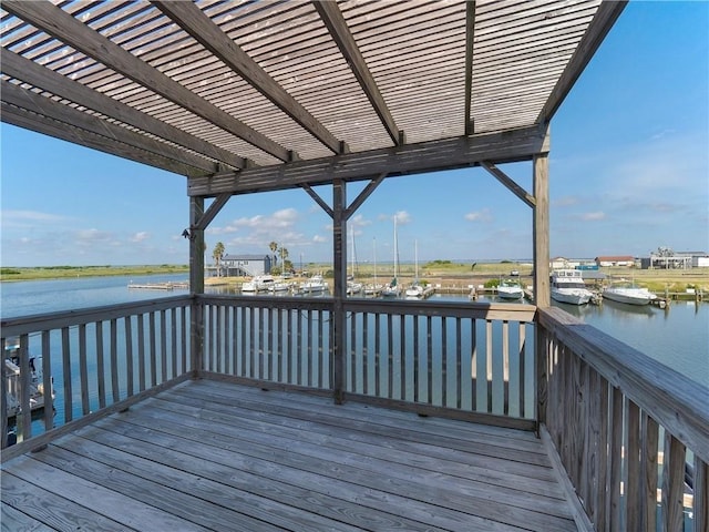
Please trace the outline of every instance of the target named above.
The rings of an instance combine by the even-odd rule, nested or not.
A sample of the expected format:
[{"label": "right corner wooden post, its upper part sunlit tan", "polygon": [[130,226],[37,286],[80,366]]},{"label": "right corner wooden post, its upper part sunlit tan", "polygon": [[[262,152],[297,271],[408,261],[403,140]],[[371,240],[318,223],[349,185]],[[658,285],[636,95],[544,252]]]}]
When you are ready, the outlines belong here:
[{"label": "right corner wooden post, its upper part sunlit tan", "polygon": [[[535,205],[533,208],[534,239],[534,303],[537,307],[551,306],[549,293],[549,166],[548,166],[548,131],[545,141],[546,151],[538,153],[533,160],[533,182]],[[546,335],[536,326],[535,360],[536,378],[536,422],[546,422],[548,342]],[[538,430],[537,430],[538,433]]]}]

